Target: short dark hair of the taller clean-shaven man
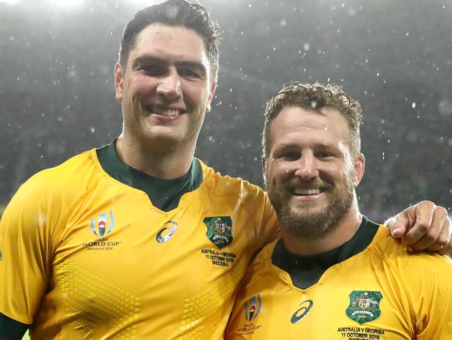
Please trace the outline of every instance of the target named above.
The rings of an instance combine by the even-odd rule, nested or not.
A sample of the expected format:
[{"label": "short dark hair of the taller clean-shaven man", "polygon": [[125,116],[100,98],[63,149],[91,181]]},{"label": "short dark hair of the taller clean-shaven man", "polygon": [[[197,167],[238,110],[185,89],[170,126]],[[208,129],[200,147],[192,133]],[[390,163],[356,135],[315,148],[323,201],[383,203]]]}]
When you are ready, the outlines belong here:
[{"label": "short dark hair of the taller clean-shaven man", "polygon": [[122,33],[119,62],[126,69],[127,59],[131,49],[134,49],[135,38],[150,24],[179,26],[200,34],[207,49],[207,57],[211,66],[211,78],[218,77],[218,57],[220,38],[218,23],[211,20],[207,10],[199,3],[189,3],[185,0],[168,0],[154,6],[139,10],[134,19],[130,20]]}]

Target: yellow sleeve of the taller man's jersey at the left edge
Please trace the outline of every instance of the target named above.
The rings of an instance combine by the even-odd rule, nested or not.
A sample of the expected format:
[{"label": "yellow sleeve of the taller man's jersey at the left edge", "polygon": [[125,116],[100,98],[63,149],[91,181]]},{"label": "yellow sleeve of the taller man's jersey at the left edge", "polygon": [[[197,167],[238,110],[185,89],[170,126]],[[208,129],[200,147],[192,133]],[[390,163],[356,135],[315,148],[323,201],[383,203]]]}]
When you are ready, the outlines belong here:
[{"label": "yellow sleeve of the taller man's jersey at the left edge", "polygon": [[33,323],[49,277],[51,211],[45,192],[45,183],[31,178],[0,221],[0,313],[19,323]]}]

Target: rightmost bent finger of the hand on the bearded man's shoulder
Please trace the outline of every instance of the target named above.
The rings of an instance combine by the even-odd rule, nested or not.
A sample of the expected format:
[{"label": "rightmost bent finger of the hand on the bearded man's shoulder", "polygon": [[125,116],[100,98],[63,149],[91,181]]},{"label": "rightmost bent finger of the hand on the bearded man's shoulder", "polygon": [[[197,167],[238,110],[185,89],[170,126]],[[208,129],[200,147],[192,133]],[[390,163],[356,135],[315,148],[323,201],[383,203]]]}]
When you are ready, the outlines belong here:
[{"label": "rightmost bent finger of the hand on the bearded man's shoulder", "polygon": [[[444,211],[443,211],[444,210]],[[421,239],[412,245],[414,250],[428,250],[437,252],[449,244],[449,228],[444,230],[446,211],[444,208],[437,207],[433,212],[432,224],[428,232]]]}]

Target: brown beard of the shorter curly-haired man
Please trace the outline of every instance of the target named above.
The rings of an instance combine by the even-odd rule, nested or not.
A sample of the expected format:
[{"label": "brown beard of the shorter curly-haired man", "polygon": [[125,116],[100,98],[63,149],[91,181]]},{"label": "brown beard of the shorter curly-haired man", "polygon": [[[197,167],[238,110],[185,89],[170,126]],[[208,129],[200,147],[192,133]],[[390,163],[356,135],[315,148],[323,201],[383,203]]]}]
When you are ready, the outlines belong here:
[{"label": "brown beard of the shorter curly-haired man", "polygon": [[318,212],[309,211],[318,204],[316,201],[298,201],[296,206],[291,206],[290,183],[269,187],[268,198],[280,219],[281,227],[292,235],[302,238],[316,238],[337,228],[341,218],[350,210],[355,197],[354,171],[350,172],[344,192],[339,192],[337,187],[329,183],[323,183],[320,186],[325,189],[323,194],[328,198],[328,205]]}]

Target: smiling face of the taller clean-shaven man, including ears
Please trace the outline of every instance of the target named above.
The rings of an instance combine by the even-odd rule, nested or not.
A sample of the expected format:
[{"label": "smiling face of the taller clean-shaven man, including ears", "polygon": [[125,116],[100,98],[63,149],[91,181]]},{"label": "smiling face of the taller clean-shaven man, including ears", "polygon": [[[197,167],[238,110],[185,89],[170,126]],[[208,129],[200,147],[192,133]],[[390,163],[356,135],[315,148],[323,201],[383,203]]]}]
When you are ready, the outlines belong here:
[{"label": "smiling face of the taller clean-shaven man, including ears", "polygon": [[159,148],[194,145],[216,88],[210,73],[195,31],[163,24],[140,31],[126,70],[115,65],[124,140]]}]

